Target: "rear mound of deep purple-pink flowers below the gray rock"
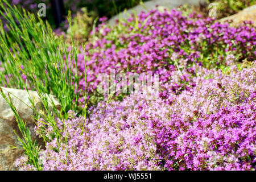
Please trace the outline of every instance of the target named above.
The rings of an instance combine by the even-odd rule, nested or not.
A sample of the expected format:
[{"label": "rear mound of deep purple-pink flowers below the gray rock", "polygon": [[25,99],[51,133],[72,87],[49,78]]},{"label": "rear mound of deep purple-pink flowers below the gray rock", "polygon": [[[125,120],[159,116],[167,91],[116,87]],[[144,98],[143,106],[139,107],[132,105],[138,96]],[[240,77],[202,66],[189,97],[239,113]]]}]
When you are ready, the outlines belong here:
[{"label": "rear mound of deep purple-pink flowers below the gray rock", "polygon": [[110,75],[110,69],[127,75],[132,72],[160,73],[163,84],[171,80],[173,71],[187,69],[181,81],[172,85],[172,90],[179,94],[194,85],[189,82],[195,75],[192,64],[220,68],[243,59],[256,60],[253,52],[256,31],[254,27],[246,26],[250,22],[234,28],[195,13],[183,16],[175,9],[132,15],[114,27],[107,25],[106,19],[100,20],[102,24],[92,32],[85,52],[78,55],[81,90],[85,90],[86,55],[86,89],[89,93],[95,93],[101,82],[98,75]]}]

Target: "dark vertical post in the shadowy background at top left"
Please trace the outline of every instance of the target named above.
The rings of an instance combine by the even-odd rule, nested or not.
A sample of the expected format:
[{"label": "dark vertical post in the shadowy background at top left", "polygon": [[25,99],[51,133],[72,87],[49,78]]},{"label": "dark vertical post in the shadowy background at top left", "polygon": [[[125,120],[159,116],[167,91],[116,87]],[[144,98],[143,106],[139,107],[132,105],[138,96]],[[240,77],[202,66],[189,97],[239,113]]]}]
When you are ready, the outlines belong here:
[{"label": "dark vertical post in the shadowy background at top left", "polygon": [[51,0],[52,14],[56,24],[56,28],[60,26],[60,23],[65,19],[65,9],[63,0]]}]

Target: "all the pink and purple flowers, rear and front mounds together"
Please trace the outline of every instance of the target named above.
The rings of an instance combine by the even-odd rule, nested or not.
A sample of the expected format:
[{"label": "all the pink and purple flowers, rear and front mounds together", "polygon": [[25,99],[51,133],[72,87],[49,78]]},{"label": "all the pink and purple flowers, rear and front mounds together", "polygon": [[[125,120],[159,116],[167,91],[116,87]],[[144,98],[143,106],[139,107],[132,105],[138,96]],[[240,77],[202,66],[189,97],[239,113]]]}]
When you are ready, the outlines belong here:
[{"label": "all the pink and purple flowers, rear and front mounds together", "polygon": [[[53,137],[47,143],[40,154],[44,170],[255,169],[256,67],[236,65],[256,60],[255,28],[177,10],[117,23],[103,22],[78,55],[79,89],[92,96],[99,74],[115,69],[158,73],[160,93],[100,101],[86,119],[57,119],[67,142]],[[33,169],[24,158],[17,165]]]}]

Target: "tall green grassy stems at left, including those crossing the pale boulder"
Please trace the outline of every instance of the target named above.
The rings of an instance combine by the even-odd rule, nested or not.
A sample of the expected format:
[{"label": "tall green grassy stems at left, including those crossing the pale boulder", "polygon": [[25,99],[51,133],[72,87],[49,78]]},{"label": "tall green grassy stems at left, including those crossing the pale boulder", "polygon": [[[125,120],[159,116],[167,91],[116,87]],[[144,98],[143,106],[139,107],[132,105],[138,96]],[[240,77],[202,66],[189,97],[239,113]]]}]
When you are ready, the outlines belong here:
[{"label": "tall green grassy stems at left, including those crossing the pale boulder", "polygon": [[[7,6],[3,5],[3,2]],[[30,99],[32,109],[34,110],[38,122],[46,123],[46,127],[53,129],[53,138],[57,142],[67,144],[67,137],[63,137],[59,127],[56,124],[56,117],[63,122],[68,118],[68,111],[79,110],[77,85],[79,76],[77,75],[77,49],[73,41],[71,29],[72,49],[67,51],[67,44],[62,38],[55,37],[48,23],[44,23],[39,17],[20,11],[14,6],[10,6],[6,0],[0,2],[0,14],[8,20],[9,33],[0,27],[0,63],[3,70],[0,72],[2,86],[18,89],[36,90],[43,102],[40,112],[35,108],[34,101]],[[5,15],[6,14],[6,15]],[[71,23],[71,14],[69,13],[69,24]],[[12,37],[12,39],[10,38]],[[73,74],[74,71],[76,74]],[[6,77],[8,76],[8,77]],[[24,76],[26,79],[24,79]],[[2,91],[2,89],[0,90]],[[57,110],[49,94],[56,96],[61,104],[61,110]],[[38,170],[38,151],[39,148],[35,142],[32,142],[30,133],[26,124],[19,117],[18,111],[9,99],[1,92],[3,98],[14,111],[23,139],[20,142],[23,145],[28,160]],[[40,118],[43,118],[40,120]],[[43,129],[44,131],[46,129]],[[45,142],[51,138],[42,135]],[[67,156],[67,154],[66,154]]]}]

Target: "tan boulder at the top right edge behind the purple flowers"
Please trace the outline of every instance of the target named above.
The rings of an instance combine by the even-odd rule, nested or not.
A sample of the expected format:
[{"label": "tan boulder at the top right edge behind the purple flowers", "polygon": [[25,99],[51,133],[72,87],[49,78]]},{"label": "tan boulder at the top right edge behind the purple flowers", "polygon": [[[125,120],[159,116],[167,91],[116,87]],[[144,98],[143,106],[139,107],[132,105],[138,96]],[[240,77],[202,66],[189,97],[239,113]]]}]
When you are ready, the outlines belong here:
[{"label": "tan boulder at the top right edge behind the purple flowers", "polygon": [[253,25],[256,26],[256,5],[247,7],[237,14],[222,18],[220,19],[220,22],[225,22],[227,20],[233,20],[232,26],[238,26],[242,22],[249,20],[253,21]]}]

